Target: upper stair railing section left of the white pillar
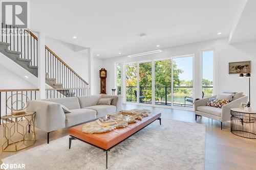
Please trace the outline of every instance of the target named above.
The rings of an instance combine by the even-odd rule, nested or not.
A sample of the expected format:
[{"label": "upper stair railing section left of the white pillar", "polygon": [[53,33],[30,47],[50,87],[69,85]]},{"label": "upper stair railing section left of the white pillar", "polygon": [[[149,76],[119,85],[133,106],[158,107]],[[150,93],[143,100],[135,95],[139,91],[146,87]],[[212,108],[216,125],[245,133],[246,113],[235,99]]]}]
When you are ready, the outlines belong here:
[{"label": "upper stair railing section left of the white pillar", "polygon": [[20,58],[31,60],[30,65],[37,66],[37,37],[29,30],[1,25],[1,41],[9,43],[8,50],[20,52]]}]

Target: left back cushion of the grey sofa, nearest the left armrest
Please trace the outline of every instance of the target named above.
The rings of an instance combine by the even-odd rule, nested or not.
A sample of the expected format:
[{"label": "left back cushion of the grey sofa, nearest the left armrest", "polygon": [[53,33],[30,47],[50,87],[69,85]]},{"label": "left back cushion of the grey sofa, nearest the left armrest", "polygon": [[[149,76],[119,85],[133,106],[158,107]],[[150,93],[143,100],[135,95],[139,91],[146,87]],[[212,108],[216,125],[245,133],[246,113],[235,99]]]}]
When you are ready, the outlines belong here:
[{"label": "left back cushion of the grey sofa, nearest the left armrest", "polygon": [[44,99],[42,101],[49,101],[54,103],[59,103],[66,106],[68,109],[80,109],[79,101],[76,97],[70,98],[58,98],[58,99]]}]

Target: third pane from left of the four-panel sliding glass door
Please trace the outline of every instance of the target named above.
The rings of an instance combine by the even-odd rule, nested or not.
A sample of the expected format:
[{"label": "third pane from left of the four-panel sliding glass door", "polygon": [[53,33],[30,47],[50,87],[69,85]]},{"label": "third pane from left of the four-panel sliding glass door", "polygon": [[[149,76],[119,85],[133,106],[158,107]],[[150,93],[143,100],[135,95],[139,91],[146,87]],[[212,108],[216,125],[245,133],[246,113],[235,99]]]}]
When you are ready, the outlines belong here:
[{"label": "third pane from left of the four-panel sliding glass door", "polygon": [[172,61],[155,62],[155,103],[156,105],[172,105]]}]

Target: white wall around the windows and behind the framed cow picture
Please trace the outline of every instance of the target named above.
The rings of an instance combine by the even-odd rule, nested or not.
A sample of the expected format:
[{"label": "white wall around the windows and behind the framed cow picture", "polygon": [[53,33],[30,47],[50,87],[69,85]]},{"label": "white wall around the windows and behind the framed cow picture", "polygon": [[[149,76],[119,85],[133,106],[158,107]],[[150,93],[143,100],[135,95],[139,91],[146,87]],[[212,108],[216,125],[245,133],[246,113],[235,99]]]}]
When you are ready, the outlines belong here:
[{"label": "white wall around the windows and behind the framed cow picture", "polygon": [[253,66],[256,64],[256,41],[243,42],[237,44],[229,44],[228,38],[216,39],[203,41],[193,44],[181,45],[176,47],[170,47],[162,49],[162,53],[152,54],[147,56],[140,56],[130,58],[127,56],[108,58],[103,60],[103,66],[108,70],[108,78],[106,81],[107,93],[112,93],[112,88],[115,87],[115,63],[127,63],[134,61],[143,60],[154,60],[154,59],[164,59],[169,57],[194,54],[195,55],[195,67],[194,67],[194,86],[195,98],[200,98],[201,96],[201,70],[200,70],[200,58],[201,51],[209,48],[214,48],[215,50],[215,93],[220,93],[222,91],[243,91],[248,94],[248,80],[239,79],[239,75],[229,75],[228,74],[228,62],[234,61],[252,61],[252,72],[251,72],[251,103],[256,105],[256,95],[253,87],[256,85],[256,75]]}]

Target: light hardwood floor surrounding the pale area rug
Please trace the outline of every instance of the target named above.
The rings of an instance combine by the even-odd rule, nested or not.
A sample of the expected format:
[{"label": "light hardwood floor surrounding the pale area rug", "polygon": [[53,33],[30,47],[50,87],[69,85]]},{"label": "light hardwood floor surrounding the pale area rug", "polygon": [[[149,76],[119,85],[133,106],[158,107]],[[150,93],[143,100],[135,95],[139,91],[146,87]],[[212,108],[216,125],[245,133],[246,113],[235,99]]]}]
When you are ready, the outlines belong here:
[{"label": "light hardwood floor surrounding the pale area rug", "polygon": [[[124,110],[150,109],[152,112],[161,112],[162,118],[180,120],[184,122],[196,122],[193,111],[168,109],[149,106],[123,105]],[[246,139],[230,132],[229,122],[223,123],[221,130],[220,122],[198,117],[197,123],[206,125],[206,149],[205,169],[256,169],[256,139]],[[3,126],[0,128],[0,140],[3,138]],[[68,128],[50,133],[50,141],[66,136]],[[36,129],[36,143],[33,147],[46,143],[47,133]],[[31,149],[32,147],[28,148]],[[19,151],[23,152],[25,150]],[[2,152],[0,159],[17,154],[19,152]],[[2,163],[2,161],[0,161]]]}]

